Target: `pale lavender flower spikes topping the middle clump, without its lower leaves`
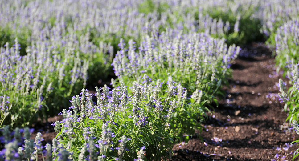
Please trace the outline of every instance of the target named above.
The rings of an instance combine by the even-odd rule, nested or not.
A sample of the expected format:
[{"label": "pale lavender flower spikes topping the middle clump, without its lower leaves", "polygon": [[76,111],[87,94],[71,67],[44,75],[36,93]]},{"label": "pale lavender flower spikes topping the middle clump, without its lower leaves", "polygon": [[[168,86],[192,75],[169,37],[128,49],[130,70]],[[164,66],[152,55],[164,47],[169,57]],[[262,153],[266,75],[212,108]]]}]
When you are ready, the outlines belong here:
[{"label": "pale lavender flower spikes topping the middle clump, without its lower leaves", "polygon": [[222,63],[223,73],[226,73],[229,62],[240,51],[234,45],[227,48],[224,39],[214,39],[204,33],[177,35],[178,31],[171,30],[160,35],[152,34],[141,41],[139,52],[136,52],[132,40],[129,41],[128,49],[117,52],[113,67],[120,80],[123,77],[136,79],[148,72],[159,75],[161,70],[182,74],[195,72],[200,80],[206,74],[205,71],[214,71],[215,75],[215,65],[218,63]]}]

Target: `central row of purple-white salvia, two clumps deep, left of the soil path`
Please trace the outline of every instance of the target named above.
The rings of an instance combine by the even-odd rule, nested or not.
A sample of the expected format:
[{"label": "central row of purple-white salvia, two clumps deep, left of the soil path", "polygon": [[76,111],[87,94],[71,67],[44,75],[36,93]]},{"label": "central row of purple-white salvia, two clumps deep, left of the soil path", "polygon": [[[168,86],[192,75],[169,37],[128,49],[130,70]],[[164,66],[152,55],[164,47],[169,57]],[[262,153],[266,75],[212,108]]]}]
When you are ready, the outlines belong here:
[{"label": "central row of purple-white salvia, two clumps deep, left of the soil path", "polygon": [[[230,46],[227,49],[223,39],[214,39],[204,33],[174,35],[175,31],[157,35],[156,39],[155,36],[147,36],[145,40],[149,42],[141,42],[139,53],[136,53],[140,56],[135,61],[134,71],[137,72],[118,75],[120,80],[132,84],[130,91],[124,83],[112,91],[107,86],[101,88],[102,92],[96,88],[96,103],[92,100],[93,95],[85,89],[81,96],[74,96],[70,110],[61,113],[63,121],[54,123],[60,150],[47,145],[50,151],[47,156],[54,160],[157,160],[172,155],[174,140],[182,141],[184,134],[192,135],[195,129],[201,130],[200,123],[208,111],[206,106],[215,100],[214,94],[219,92],[219,87],[227,80],[229,62],[236,57],[239,47]],[[133,44],[133,41],[129,42]],[[201,48],[197,48],[199,45],[196,44],[199,43]],[[132,57],[138,58],[133,55],[135,49],[132,44],[129,44],[131,50],[126,51],[124,42],[121,42],[121,51],[118,53],[131,52]],[[163,48],[164,45],[166,48]],[[156,51],[159,56],[155,55],[151,59],[152,51]],[[164,52],[169,55],[163,55]],[[114,64],[117,60],[127,61],[125,55],[123,59],[119,55]],[[164,59],[168,61],[163,63]],[[184,64],[182,59],[189,63]],[[117,62],[124,63],[129,62]],[[129,68],[126,70],[133,71]],[[161,75],[147,75],[154,71]],[[183,74],[190,80],[179,79]],[[131,77],[138,80],[130,80]],[[3,98],[2,102],[6,102]],[[40,139],[37,137],[35,142],[40,142]],[[53,143],[55,146],[56,141]],[[3,151],[18,151],[18,155],[12,158],[3,153],[6,160],[21,159],[21,154],[26,152],[16,150],[18,146],[15,145],[10,149],[8,142],[6,145]],[[130,150],[126,151],[125,146]],[[147,152],[146,157],[143,150]],[[35,151],[31,148],[30,154],[36,158],[37,154],[43,155],[41,151],[42,148]]]}]

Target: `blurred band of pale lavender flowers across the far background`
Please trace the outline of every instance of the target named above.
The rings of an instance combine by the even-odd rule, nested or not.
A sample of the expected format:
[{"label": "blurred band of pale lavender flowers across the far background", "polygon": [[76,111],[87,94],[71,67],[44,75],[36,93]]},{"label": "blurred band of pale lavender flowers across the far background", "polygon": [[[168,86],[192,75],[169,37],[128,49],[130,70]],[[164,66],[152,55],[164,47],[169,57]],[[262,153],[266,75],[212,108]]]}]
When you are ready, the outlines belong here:
[{"label": "blurred band of pale lavender flowers across the far background", "polygon": [[51,29],[58,24],[75,26],[77,34],[89,33],[93,43],[103,40],[111,42],[114,48],[121,37],[139,42],[149,26],[158,27],[160,31],[165,28],[207,31],[216,37],[225,37],[230,45],[246,43],[260,38],[259,31],[267,36],[275,33],[285,20],[297,17],[299,10],[293,0],[113,0],[109,3],[15,0],[2,1],[0,6],[3,13],[0,15],[1,45],[18,37],[22,40],[23,52],[41,32],[47,32],[48,25]]}]

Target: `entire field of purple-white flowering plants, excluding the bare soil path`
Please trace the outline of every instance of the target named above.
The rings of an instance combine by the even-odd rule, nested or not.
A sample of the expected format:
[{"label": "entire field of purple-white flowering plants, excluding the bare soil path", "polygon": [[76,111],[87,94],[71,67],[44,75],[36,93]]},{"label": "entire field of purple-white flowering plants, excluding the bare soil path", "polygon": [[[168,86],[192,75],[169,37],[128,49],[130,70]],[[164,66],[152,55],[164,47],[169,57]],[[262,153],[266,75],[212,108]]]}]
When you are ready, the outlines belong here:
[{"label": "entire field of purple-white flowering plants, excluding the bare soil path", "polygon": [[[248,56],[256,42],[296,145],[296,0],[0,1],[0,161],[174,160],[177,145],[207,144],[210,116],[233,104],[235,63],[264,61]],[[57,115],[45,141],[34,126]]]}]

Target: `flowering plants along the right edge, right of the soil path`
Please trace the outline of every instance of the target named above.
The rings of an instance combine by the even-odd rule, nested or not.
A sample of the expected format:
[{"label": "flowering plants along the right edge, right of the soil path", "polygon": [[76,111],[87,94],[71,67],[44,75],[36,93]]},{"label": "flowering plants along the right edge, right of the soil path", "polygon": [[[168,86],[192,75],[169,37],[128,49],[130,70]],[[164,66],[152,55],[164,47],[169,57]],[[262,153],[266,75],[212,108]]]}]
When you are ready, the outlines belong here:
[{"label": "flowering plants along the right edge, right of the soil path", "polygon": [[[298,133],[299,120],[299,21],[298,18],[287,21],[277,29],[275,35],[275,53],[277,65],[285,70],[285,75],[289,78],[291,87],[286,88],[286,83],[279,80],[280,100],[285,103],[285,111],[289,113],[288,120],[293,124]],[[294,143],[299,142],[297,139]],[[294,154],[294,158],[299,153]]]}]

